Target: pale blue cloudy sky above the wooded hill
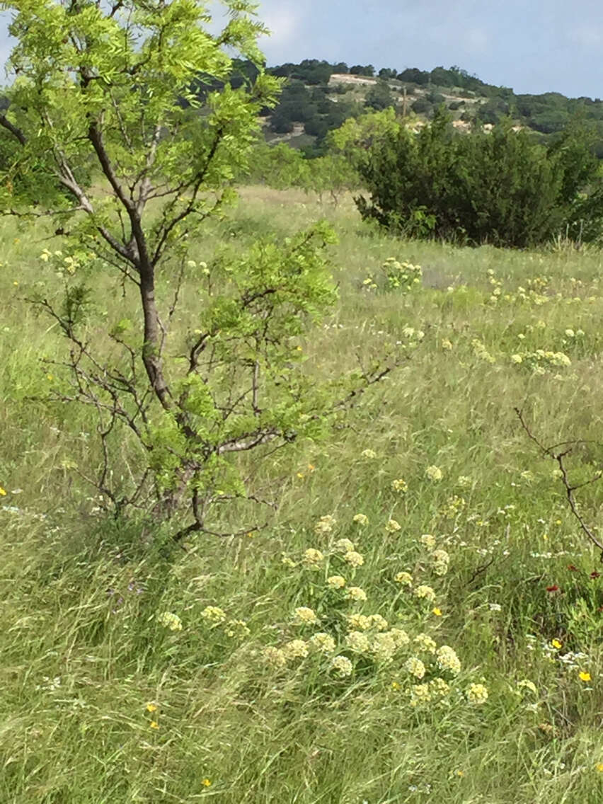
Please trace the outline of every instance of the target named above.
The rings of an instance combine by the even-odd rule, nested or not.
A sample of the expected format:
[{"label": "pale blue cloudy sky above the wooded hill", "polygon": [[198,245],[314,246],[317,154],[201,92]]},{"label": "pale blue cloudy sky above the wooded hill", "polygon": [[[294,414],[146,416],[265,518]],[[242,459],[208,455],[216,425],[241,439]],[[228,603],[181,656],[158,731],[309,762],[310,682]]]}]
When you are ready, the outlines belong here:
[{"label": "pale blue cloudy sky above the wooded hill", "polygon": [[[602,0],[256,0],[268,64],[452,64],[515,92],[603,97]],[[10,52],[0,14],[0,64]],[[0,80],[0,83],[2,81]]]}]

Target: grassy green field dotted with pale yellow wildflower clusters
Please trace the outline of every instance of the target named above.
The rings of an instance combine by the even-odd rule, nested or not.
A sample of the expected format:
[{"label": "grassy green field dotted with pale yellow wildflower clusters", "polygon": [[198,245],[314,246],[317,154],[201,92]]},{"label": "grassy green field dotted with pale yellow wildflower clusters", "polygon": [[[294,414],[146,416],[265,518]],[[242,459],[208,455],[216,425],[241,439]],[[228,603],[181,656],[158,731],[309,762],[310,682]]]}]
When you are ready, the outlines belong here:
[{"label": "grassy green field dotted with pale yellow wildflower clusters", "polygon": [[[406,243],[351,199],[247,188],[191,256],[321,217],[340,301],[308,370],[410,359],[260,467],[269,527],[170,562],[98,515],[87,413],[30,399],[65,348],[26,301],[60,243],[2,224],[2,804],[603,800],[603,570],[514,412],[581,441],[572,483],[601,466],[603,254]],[[409,293],[389,257],[421,266]],[[132,301],[97,287],[102,344]],[[576,499],[597,531],[601,486]]]}]

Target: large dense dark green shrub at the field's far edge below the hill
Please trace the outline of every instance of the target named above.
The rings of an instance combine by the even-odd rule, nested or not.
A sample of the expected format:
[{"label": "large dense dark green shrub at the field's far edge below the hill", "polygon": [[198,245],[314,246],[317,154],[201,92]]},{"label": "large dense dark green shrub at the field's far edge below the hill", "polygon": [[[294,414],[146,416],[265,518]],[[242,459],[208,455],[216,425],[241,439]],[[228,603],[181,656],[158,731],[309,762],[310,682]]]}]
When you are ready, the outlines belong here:
[{"label": "large dense dark green shrub at the field's far edge below the hill", "polygon": [[406,236],[519,248],[560,232],[601,236],[603,185],[583,129],[541,146],[510,123],[468,135],[449,122],[438,110],[419,134],[401,129],[365,154],[359,173],[370,200],[356,199],[364,219]]}]

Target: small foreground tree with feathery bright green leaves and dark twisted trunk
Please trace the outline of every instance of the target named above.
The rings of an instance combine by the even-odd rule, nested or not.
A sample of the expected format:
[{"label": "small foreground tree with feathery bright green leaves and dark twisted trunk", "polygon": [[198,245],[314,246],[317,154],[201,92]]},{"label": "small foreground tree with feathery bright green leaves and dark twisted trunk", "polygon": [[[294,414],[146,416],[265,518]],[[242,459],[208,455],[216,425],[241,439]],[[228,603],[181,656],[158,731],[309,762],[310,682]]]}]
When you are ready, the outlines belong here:
[{"label": "small foreground tree with feathery bright green leaves and dark twisted trunk", "polygon": [[[265,28],[247,0],[224,0],[228,23],[218,33],[207,5],[4,4],[14,10],[17,45],[0,125],[18,150],[2,170],[0,203],[25,219],[50,215],[57,232],[69,233],[62,254],[41,255],[53,280],[64,277],[63,296],[42,273],[35,300],[69,344],[51,398],[95,412],[101,457],[89,479],[109,507],[159,520],[180,511],[176,539],[212,532],[216,506],[249,498],[236,456],[314,437],[347,393],[379,375],[329,392],[301,369],[292,339],[334,301],[326,227],[247,254],[223,250],[211,265],[189,259],[203,222],[232,201],[258,113],[279,88],[263,71],[256,39]],[[257,68],[256,80],[237,89],[233,52]],[[140,317],[117,315],[109,356],[88,330],[98,273],[137,296]],[[190,291],[183,301],[186,283],[195,304]],[[188,314],[187,334],[170,334],[176,310]],[[114,472],[126,433],[136,457],[128,472]]]}]

